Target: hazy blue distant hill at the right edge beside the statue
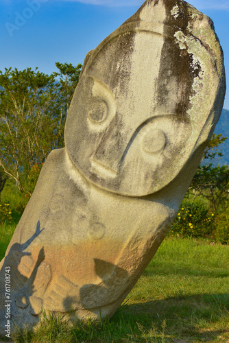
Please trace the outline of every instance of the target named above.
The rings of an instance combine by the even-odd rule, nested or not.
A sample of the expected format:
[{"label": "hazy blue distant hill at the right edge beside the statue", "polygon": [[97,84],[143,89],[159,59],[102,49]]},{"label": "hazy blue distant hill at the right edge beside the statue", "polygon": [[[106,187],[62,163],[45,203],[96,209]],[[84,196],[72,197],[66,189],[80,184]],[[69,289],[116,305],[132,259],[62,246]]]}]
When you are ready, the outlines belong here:
[{"label": "hazy blue distant hill at the right edge beside the statue", "polygon": [[213,165],[229,165],[229,110],[223,108],[214,132],[215,134],[221,133],[224,137],[228,137],[228,139],[219,145],[219,149],[223,151],[224,156],[209,162],[213,163]]}]

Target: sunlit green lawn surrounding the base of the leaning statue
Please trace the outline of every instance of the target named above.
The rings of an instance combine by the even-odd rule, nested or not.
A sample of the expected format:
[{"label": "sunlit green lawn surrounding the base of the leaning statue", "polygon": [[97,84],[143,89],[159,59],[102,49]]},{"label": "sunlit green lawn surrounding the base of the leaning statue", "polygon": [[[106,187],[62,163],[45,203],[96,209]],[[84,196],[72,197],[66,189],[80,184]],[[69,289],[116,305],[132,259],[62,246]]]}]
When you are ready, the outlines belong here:
[{"label": "sunlit green lawn surrounding the base of the leaning statue", "polygon": [[167,238],[111,320],[71,327],[43,318],[14,341],[229,342],[229,246]]}]

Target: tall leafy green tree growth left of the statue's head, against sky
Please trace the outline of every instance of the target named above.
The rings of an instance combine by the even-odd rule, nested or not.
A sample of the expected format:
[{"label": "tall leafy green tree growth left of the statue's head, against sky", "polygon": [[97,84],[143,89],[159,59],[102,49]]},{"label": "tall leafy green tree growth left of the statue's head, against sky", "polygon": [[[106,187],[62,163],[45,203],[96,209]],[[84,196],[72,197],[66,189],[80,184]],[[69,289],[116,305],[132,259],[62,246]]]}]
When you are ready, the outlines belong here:
[{"label": "tall leafy green tree growth left of the statue's head, against sky", "polygon": [[37,68],[0,71],[0,166],[29,195],[23,176],[64,145],[67,108],[79,80],[80,64],[57,67],[60,73],[51,75]]}]

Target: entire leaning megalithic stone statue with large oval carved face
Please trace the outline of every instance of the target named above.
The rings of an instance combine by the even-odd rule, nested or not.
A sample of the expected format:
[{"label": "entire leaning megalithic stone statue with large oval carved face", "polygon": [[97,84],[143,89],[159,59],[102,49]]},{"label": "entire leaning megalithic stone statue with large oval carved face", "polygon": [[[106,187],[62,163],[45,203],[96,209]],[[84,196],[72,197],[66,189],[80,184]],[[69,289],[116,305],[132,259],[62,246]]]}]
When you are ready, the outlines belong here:
[{"label": "entire leaning megalithic stone statue with large oval carved face", "polygon": [[88,53],[65,126],[1,261],[11,319],[34,327],[111,317],[178,212],[219,119],[224,61],[213,22],[147,0]]}]

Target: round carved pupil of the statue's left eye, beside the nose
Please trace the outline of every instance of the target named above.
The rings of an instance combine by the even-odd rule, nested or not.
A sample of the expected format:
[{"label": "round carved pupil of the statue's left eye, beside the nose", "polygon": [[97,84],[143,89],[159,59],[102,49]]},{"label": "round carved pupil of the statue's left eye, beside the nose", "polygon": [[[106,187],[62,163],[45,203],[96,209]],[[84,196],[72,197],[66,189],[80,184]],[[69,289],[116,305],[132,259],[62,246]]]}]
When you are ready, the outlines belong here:
[{"label": "round carved pupil of the statue's left eye, beside the nose", "polygon": [[88,106],[88,117],[93,123],[101,123],[108,117],[108,106],[102,99],[95,98]]}]

